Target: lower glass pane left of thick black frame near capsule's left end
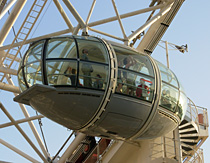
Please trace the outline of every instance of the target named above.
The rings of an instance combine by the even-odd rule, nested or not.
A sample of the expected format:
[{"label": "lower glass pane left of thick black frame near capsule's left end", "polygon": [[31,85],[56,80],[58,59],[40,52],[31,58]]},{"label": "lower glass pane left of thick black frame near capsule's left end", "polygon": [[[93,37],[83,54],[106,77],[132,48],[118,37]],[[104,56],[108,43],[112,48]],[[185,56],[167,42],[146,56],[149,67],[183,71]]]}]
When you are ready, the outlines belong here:
[{"label": "lower glass pane left of thick black frame near capsule's left end", "polygon": [[27,63],[24,67],[26,82],[29,87],[42,83],[41,62]]}]

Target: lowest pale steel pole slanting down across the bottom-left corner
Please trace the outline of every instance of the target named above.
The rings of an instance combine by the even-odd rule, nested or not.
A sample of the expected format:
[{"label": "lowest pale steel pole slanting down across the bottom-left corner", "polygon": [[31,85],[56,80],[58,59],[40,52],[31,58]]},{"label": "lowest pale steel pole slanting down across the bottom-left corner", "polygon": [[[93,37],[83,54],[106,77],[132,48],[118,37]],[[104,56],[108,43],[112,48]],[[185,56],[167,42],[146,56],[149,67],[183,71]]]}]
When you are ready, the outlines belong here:
[{"label": "lowest pale steel pole slanting down across the bottom-left corner", "polygon": [[7,148],[13,150],[17,154],[23,156],[25,159],[27,159],[27,160],[29,160],[29,161],[31,161],[33,163],[39,163],[39,161],[35,160],[34,158],[30,157],[26,153],[24,153],[24,152],[20,151],[19,149],[15,148],[14,146],[12,146],[11,144],[5,142],[4,140],[0,139],[0,143],[3,144],[4,146],[6,146]]}]

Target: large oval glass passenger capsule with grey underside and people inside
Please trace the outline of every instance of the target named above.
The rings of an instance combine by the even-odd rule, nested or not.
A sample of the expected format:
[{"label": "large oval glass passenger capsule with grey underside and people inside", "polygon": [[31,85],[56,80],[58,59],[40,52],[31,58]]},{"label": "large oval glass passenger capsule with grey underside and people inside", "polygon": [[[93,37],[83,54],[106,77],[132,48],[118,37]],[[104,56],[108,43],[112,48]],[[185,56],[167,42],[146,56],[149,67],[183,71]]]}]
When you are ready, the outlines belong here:
[{"label": "large oval glass passenger capsule with grey underside and people inside", "polygon": [[18,70],[15,101],[88,135],[139,140],[183,119],[187,97],[174,73],[149,55],[96,37],[31,43]]}]

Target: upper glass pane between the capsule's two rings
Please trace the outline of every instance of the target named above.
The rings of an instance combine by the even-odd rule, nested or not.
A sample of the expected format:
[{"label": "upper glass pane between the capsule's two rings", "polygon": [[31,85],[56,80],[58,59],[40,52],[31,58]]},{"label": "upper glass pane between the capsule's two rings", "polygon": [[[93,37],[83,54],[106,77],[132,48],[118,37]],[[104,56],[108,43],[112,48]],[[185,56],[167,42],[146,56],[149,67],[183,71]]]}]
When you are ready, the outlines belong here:
[{"label": "upper glass pane between the capsule's two rings", "polygon": [[152,64],[147,56],[118,46],[113,48],[117,55],[118,67],[154,76]]}]

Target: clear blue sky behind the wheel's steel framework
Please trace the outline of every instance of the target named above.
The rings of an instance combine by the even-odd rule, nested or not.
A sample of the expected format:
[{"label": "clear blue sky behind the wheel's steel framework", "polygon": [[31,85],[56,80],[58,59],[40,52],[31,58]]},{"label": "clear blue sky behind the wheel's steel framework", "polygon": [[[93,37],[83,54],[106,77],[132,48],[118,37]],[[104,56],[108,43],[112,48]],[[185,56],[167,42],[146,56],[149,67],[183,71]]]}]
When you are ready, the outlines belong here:
[{"label": "clear blue sky behind the wheel's steel framework", "polygon": [[[86,15],[88,13],[88,6],[91,5],[90,2],[92,1],[81,1],[80,3],[72,1],[78,12],[84,19],[86,18]],[[130,10],[137,10],[141,8],[141,5],[145,6],[145,4],[149,4],[146,1],[139,2],[137,0],[130,0],[129,2],[130,4],[128,5],[125,2],[120,2],[119,0],[116,1],[116,4],[120,5],[120,13],[126,13]],[[24,18],[23,15],[26,13],[27,5],[25,7],[25,10],[23,10],[22,19]],[[107,9],[104,9],[102,6],[106,6]],[[170,25],[169,29],[166,31],[164,37],[162,38],[162,40],[166,40],[177,45],[188,44],[188,53],[182,54],[178,51],[169,52],[170,68],[181,81],[182,85],[185,88],[187,96],[192,99],[196,105],[205,108],[210,108],[210,22],[208,20],[208,17],[210,16],[209,7],[210,1],[208,0],[186,0],[180,11],[176,15],[175,19],[173,20],[172,24]],[[108,10],[108,8],[110,9]],[[90,22],[93,20],[98,20],[101,17],[106,18],[109,16],[113,16],[114,10],[111,7],[111,1],[97,1],[96,8],[93,14],[94,15],[93,17],[91,17]],[[143,14],[142,16],[134,17],[131,20],[123,20],[125,30],[131,31],[138,28],[139,22],[145,22],[145,16],[146,14]],[[2,19],[2,22],[4,21],[5,18]],[[18,26],[20,26],[19,22],[21,21],[21,18],[18,19],[18,22],[15,24],[16,29],[18,29]],[[76,21],[72,21],[72,23],[75,24]],[[142,23],[140,23],[140,25],[141,24]],[[3,23],[0,23],[0,28],[2,27],[2,25]],[[39,23],[36,30],[33,31],[33,37],[56,32],[66,28],[67,26],[55,9],[54,4],[51,3],[46,14],[43,16],[42,21]],[[97,29],[106,31],[108,33],[121,34],[119,30],[119,25],[117,23],[110,23],[109,25],[99,26],[97,27]],[[12,33],[10,33],[10,36],[11,35]],[[98,34],[95,35],[97,36]],[[10,36],[5,41],[5,44],[9,44],[9,42],[11,42]],[[162,48],[157,47],[153,52],[152,57],[166,64],[165,51]],[[14,80],[16,81],[15,78]],[[1,102],[9,110],[13,117],[15,119],[23,118],[22,114],[19,114],[20,109],[18,107],[18,104],[12,101],[12,97],[13,95],[11,93],[0,91]],[[29,112],[31,115],[35,115],[33,109],[29,109]],[[210,111],[208,111],[208,113],[210,114]],[[2,113],[2,111],[0,111],[0,115],[0,123],[8,122],[7,117]],[[43,119],[42,121],[48,148],[50,149],[51,154],[55,154],[60,148],[61,144],[70,134],[70,131],[67,131],[64,127],[61,127],[51,122],[50,120]],[[36,122],[35,125],[38,128]],[[21,124],[21,127],[28,131],[27,124]],[[34,140],[31,132],[27,132],[27,134]],[[20,149],[22,149],[23,151],[27,151],[29,155],[31,154],[32,156],[37,158],[36,154],[30,149],[30,146],[27,145],[25,140],[21,137],[21,135],[16,131],[14,127],[1,129],[0,138],[13,144],[14,146],[20,147]],[[208,155],[208,153],[210,153],[209,146],[210,140],[207,139],[207,141],[202,146],[202,148],[204,149],[205,162],[208,162],[210,160],[210,155]],[[16,155],[14,152],[11,152],[4,146],[0,146],[0,160],[11,162],[26,162],[25,159]]]}]

